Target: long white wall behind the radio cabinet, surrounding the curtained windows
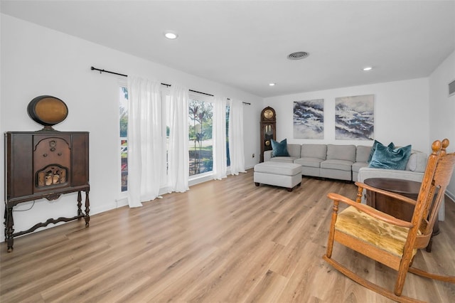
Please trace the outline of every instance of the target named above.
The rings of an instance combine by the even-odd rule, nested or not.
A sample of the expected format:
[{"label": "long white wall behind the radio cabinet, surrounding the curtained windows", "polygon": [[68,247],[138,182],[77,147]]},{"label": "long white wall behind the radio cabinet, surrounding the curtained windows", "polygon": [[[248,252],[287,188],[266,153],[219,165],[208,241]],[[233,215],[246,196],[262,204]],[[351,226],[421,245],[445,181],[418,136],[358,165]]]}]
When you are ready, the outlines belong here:
[{"label": "long white wall behind the radio cabinet, surrounding the curtained windows", "polygon": [[[69,114],[55,126],[61,131],[90,132],[91,214],[117,207],[119,197],[119,101],[118,85],[124,78],[97,73],[90,66],[124,74],[136,74],[162,83],[181,84],[189,89],[222,95],[245,102],[245,166],[257,163],[259,117],[262,98],[167,68],[164,65],[105,48],[64,33],[36,26],[1,14],[1,102],[0,131],[34,131],[41,125],[27,115],[27,105],[38,95],[53,95],[65,101]],[[2,146],[3,146],[3,140]],[[4,159],[4,149],[0,150]],[[0,161],[4,171],[4,161]],[[0,175],[4,184],[4,174]],[[0,186],[4,196],[4,186]],[[59,216],[75,216],[75,194],[58,200],[36,201],[31,211],[14,213],[16,231]],[[15,209],[26,209],[21,203]],[[1,203],[0,213],[4,212]],[[81,223],[82,224],[82,223]],[[92,221],[92,224],[96,224]],[[52,224],[50,226],[53,226]],[[4,234],[0,233],[0,241]]]}]

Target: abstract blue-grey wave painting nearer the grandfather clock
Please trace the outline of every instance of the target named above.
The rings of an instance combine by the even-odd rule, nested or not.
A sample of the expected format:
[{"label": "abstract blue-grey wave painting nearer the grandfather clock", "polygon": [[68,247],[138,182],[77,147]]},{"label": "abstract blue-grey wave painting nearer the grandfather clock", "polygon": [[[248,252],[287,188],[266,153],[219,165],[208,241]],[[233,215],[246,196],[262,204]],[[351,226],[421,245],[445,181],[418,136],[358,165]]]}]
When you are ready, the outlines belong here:
[{"label": "abstract blue-grey wave painting nearer the grandfather clock", "polygon": [[294,138],[324,138],[324,100],[294,101]]}]

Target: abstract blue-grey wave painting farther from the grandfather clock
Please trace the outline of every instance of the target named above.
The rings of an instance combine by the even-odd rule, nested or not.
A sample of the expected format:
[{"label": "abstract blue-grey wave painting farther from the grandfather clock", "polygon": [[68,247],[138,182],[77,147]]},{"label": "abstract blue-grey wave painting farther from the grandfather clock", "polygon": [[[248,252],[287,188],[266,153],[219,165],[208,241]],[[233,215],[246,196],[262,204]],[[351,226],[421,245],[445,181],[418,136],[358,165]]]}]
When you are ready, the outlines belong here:
[{"label": "abstract blue-grey wave painting farther from the grandfather clock", "polygon": [[373,140],[375,95],[335,98],[335,139]]}]

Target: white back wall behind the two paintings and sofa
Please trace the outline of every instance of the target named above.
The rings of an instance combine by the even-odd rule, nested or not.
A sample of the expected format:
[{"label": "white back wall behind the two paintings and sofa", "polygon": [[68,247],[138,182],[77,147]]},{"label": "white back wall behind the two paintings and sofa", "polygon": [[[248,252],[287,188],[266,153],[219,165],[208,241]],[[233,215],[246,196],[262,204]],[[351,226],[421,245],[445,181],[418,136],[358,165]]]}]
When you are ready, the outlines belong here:
[{"label": "white back wall behind the two paintings and sofa", "polygon": [[[373,71],[374,73],[374,71]],[[290,143],[372,145],[370,140],[335,139],[335,98],[375,95],[375,139],[397,146],[412,144],[413,149],[429,152],[428,78],[336,88],[316,92],[268,97],[264,106],[277,112],[277,139]],[[324,100],[323,139],[294,139],[294,101]]]}]

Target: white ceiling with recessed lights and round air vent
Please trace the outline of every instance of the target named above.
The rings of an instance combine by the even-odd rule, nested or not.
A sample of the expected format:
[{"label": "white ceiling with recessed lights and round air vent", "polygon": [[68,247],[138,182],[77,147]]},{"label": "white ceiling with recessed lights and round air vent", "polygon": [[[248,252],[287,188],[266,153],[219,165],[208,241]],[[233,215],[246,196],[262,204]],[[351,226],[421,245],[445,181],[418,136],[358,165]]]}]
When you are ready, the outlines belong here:
[{"label": "white ceiling with recessed lights and round air vent", "polygon": [[[260,97],[428,77],[455,50],[455,1],[1,0],[1,12]],[[296,51],[310,55],[288,60]]]}]

